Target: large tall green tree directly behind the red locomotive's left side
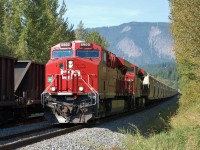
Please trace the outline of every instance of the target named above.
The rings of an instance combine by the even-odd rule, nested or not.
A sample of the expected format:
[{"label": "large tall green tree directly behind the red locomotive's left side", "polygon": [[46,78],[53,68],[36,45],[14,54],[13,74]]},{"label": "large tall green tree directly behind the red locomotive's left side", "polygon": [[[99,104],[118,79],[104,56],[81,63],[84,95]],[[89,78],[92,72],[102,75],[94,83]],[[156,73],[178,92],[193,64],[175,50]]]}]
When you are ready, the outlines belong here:
[{"label": "large tall green tree directly behind the red locomotive's left side", "polygon": [[[66,5],[59,11],[57,0],[29,1],[27,7],[28,58],[37,61],[49,59],[49,49],[60,41],[74,40],[73,26],[63,20]],[[42,30],[41,30],[42,29]]]}]

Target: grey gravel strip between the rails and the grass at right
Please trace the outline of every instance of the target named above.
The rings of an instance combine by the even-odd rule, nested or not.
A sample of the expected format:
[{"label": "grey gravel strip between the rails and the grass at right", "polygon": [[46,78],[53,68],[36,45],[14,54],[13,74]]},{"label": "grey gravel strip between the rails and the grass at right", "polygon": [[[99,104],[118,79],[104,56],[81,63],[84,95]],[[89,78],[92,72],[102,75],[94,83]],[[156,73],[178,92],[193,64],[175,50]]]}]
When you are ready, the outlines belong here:
[{"label": "grey gravel strip between the rails and the grass at right", "polygon": [[177,103],[176,98],[172,98],[156,107],[153,107],[144,112],[136,113],[131,116],[110,121],[101,124],[94,128],[84,128],[66,135],[58,136],[52,139],[47,139],[26,147],[20,150],[94,150],[94,149],[123,149],[122,139],[126,136],[119,131],[119,128],[129,129],[130,124],[134,124],[138,128],[155,118],[163,110],[168,109]]}]

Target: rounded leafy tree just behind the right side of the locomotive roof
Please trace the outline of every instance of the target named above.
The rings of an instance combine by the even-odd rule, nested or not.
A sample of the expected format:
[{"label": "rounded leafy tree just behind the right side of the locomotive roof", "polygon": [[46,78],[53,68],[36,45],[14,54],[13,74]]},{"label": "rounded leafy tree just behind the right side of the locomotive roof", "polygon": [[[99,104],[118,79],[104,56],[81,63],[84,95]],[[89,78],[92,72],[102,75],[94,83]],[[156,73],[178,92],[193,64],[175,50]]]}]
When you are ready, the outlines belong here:
[{"label": "rounded leafy tree just behind the right side of the locomotive roof", "polygon": [[85,37],[85,41],[86,42],[96,43],[98,45],[101,45],[105,49],[109,48],[109,43],[108,43],[108,41],[106,41],[106,38],[103,35],[101,36],[96,31],[90,31],[90,32],[88,32],[87,35],[86,35],[86,37]]}]

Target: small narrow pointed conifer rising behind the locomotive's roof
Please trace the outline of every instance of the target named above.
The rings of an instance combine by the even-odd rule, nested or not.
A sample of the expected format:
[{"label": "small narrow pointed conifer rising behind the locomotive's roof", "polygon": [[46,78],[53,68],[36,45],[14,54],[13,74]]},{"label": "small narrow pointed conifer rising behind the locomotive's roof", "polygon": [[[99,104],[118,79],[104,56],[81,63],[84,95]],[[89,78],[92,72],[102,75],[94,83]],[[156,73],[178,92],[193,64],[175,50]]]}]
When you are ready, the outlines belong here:
[{"label": "small narrow pointed conifer rising behind the locomotive's roof", "polygon": [[84,40],[85,36],[86,36],[86,31],[84,29],[84,24],[82,21],[80,21],[80,23],[77,26],[77,29],[75,31],[75,36],[76,36],[76,40]]}]

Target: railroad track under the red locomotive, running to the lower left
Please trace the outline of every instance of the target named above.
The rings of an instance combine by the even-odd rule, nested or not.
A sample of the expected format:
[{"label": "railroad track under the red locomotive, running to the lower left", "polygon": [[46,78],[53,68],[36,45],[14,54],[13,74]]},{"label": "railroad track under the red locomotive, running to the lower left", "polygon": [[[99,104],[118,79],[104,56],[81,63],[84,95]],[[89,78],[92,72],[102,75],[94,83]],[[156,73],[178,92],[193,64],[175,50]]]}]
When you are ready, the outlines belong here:
[{"label": "railroad track under the red locomotive, running to the lower left", "polygon": [[[154,103],[152,105],[150,105],[149,107],[144,107],[141,109],[136,109],[134,111],[131,112],[125,112],[123,114],[117,114],[117,115],[113,115],[111,117],[106,117],[103,118],[101,120],[98,120],[96,122],[92,122],[92,123],[88,123],[88,124],[65,124],[65,126],[62,125],[52,125],[49,126],[48,128],[40,128],[40,129],[36,129],[36,130],[31,130],[31,131],[27,131],[27,132],[23,132],[23,133],[18,133],[15,135],[9,135],[9,136],[5,136],[5,137],[0,137],[0,141],[2,140],[10,140],[11,138],[19,138],[20,140],[18,141],[13,141],[13,142],[7,142],[3,145],[0,146],[0,150],[5,150],[5,149],[16,149],[16,148],[20,148],[23,146],[27,146],[42,140],[46,140],[46,139],[50,139],[56,136],[60,136],[60,135],[64,135],[66,133],[70,133],[76,130],[80,130],[82,128],[89,128],[89,127],[94,127],[97,124],[101,124],[104,122],[108,122],[108,121],[112,121],[115,120],[116,118],[122,118],[122,117],[126,117],[128,115],[132,115],[133,113],[137,113],[137,112],[141,112],[144,111],[146,109],[150,109],[152,107],[157,106],[159,103]],[[67,126],[66,126],[67,125]],[[53,131],[51,130],[53,129]],[[45,131],[44,131],[45,130]],[[48,130],[51,130],[48,132]],[[42,133],[41,133],[42,132]],[[34,136],[29,136],[29,137],[24,137],[25,135],[31,135],[31,134],[35,134]],[[37,134],[37,135],[36,135]]]}]

